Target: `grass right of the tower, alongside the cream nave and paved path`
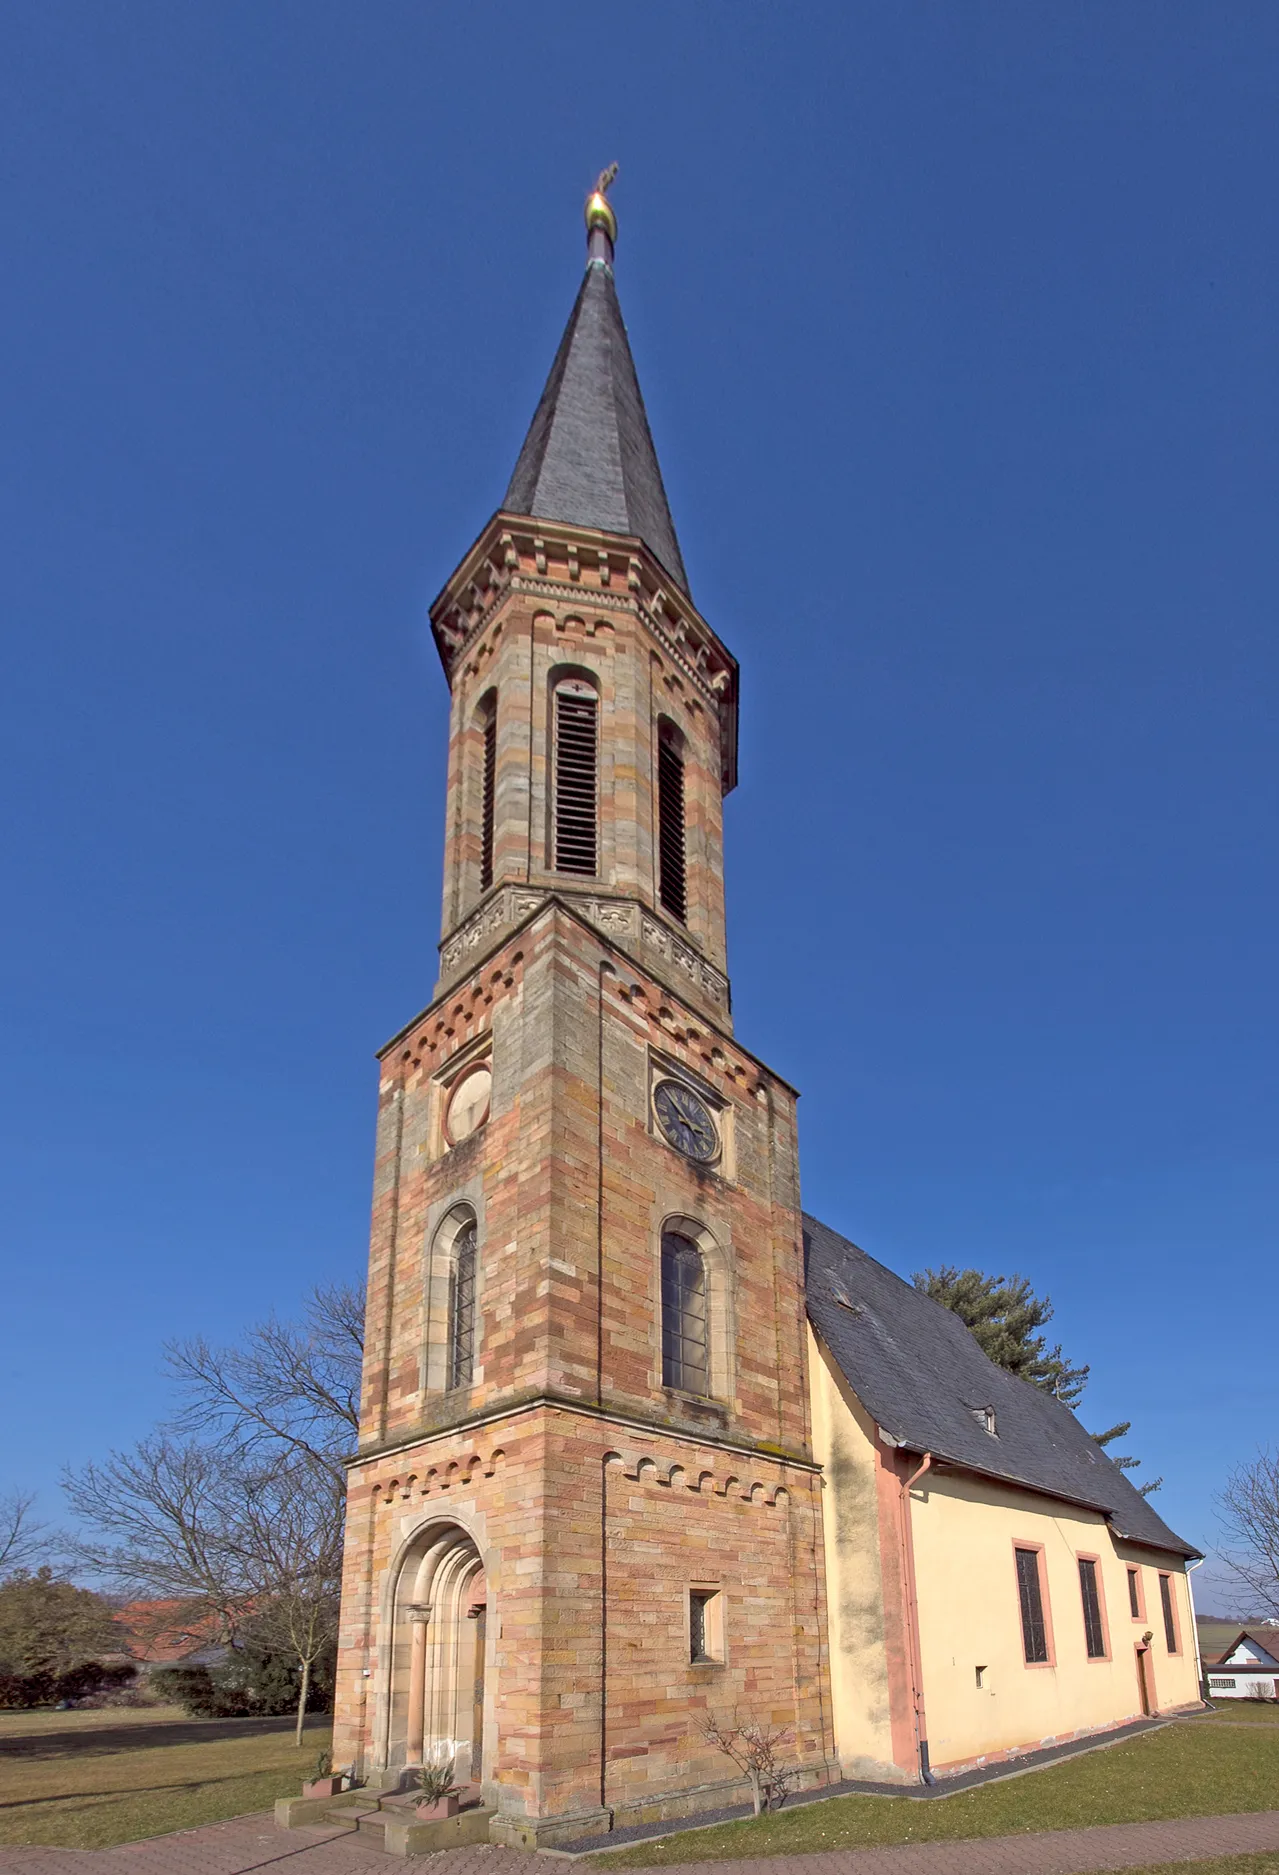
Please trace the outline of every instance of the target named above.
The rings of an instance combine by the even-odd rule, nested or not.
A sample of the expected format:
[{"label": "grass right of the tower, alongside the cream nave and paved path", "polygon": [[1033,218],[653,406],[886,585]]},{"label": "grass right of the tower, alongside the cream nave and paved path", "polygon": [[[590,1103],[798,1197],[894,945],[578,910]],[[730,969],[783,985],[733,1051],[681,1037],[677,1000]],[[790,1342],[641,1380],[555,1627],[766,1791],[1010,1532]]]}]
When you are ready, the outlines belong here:
[{"label": "grass right of the tower, alongside the cream nave and paved path", "polygon": [[[1279,1789],[1279,1727],[1168,1725],[1103,1751],[1007,1778],[941,1800],[833,1796],[771,1817],[681,1830],[608,1854],[608,1868],[655,1868],[735,1856],[790,1856],[881,1843],[940,1843],[1030,1830],[1082,1830],[1097,1822],[1155,1822],[1271,1809]],[[1271,1866],[1279,1862],[1271,1856]],[[1236,1856],[1240,1869],[1266,1858]],[[1208,1864],[1196,1864],[1206,1869]]]}]

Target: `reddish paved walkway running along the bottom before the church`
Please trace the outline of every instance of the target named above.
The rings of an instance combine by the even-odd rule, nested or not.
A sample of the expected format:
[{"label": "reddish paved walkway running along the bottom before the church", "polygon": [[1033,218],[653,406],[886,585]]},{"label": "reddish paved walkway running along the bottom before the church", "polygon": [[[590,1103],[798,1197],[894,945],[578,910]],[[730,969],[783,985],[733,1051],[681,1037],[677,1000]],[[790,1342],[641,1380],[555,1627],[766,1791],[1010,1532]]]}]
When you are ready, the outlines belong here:
[{"label": "reddish paved walkway running along the bottom before the church", "polygon": [[[979,1836],[962,1843],[900,1843],[891,1849],[836,1849],[820,1856],[758,1856],[748,1862],[686,1862],[683,1875],[1076,1875],[1148,1862],[1279,1851],[1279,1809],[1236,1817],[1183,1817],[1178,1822],[1116,1822],[1097,1830],[1039,1836]],[[542,1875],[564,1869],[519,1849],[448,1849],[422,1858],[429,1875]],[[377,1875],[381,1849],[332,1830],[276,1830],[268,1815],[210,1822],[203,1830],[158,1836],[124,1849],[0,1849],[0,1875]],[[608,1860],[591,1864],[606,1869]]]}]

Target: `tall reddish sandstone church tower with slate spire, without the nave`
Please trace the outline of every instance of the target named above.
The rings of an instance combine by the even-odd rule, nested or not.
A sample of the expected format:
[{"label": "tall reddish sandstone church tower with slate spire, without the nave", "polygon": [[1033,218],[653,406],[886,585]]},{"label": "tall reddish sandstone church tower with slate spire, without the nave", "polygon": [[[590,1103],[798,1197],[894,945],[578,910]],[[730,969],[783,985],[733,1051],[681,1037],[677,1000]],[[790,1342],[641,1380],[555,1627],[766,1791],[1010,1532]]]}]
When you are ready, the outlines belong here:
[{"label": "tall reddish sandstone church tower with slate spire, without the nave", "polygon": [[795,1093],[730,1011],[737,666],[615,238],[600,188],[503,506],[431,608],[443,939],[381,1052],[334,1740],[373,1785],[450,1740],[529,1847],[730,1800],[707,1718],[838,1774]]}]

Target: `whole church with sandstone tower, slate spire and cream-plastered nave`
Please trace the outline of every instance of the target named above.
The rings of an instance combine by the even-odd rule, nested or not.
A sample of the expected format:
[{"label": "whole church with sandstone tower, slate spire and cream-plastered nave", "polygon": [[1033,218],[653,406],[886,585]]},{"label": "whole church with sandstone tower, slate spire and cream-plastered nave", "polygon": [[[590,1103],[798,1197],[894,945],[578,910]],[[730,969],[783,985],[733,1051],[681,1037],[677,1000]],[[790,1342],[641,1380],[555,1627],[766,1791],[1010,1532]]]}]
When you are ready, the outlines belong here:
[{"label": "whole church with sandstone tower, slate spire and cream-plastered nave", "polygon": [[379,1056],[334,1762],[446,1744],[489,1839],[919,1785],[1198,1704],[1187,1562],[1073,1412],[805,1215],[737,1039],[739,669],[694,604],[613,278],[587,266],[448,681],[429,1005]]}]

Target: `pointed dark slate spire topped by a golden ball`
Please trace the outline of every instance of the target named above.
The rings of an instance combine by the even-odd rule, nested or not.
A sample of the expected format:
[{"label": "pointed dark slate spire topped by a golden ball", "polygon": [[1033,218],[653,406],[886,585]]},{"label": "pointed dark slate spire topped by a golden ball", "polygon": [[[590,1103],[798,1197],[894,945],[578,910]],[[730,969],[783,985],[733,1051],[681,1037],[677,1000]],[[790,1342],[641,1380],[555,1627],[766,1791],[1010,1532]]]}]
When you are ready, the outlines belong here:
[{"label": "pointed dark slate spire topped by a golden ball", "polygon": [[688,591],[613,283],[613,163],[587,197],[587,272],[503,501],[508,514],[634,534]]}]

